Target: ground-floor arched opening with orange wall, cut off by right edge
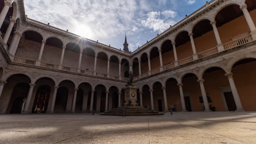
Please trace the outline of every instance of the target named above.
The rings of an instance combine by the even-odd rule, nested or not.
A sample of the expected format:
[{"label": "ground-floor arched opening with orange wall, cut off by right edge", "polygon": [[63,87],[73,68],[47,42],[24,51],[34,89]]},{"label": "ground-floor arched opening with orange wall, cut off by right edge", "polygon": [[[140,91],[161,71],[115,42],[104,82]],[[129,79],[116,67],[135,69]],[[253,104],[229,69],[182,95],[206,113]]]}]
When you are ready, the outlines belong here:
[{"label": "ground-floor arched opening with orange wall, cut off by right edge", "polygon": [[246,58],[237,61],[232,66],[233,79],[240,97],[243,109],[246,111],[256,110],[255,98],[255,58]]}]

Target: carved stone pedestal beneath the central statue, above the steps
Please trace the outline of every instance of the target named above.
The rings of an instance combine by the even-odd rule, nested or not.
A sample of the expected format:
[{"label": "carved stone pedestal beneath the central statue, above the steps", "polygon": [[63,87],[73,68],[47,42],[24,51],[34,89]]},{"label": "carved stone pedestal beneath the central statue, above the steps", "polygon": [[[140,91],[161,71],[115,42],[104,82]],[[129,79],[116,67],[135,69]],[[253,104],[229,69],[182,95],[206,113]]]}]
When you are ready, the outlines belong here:
[{"label": "carved stone pedestal beneath the central statue, above the steps", "polygon": [[[136,106],[137,100],[137,87],[127,86],[124,88],[125,90],[125,106]],[[130,101],[130,103],[129,103]]]}]

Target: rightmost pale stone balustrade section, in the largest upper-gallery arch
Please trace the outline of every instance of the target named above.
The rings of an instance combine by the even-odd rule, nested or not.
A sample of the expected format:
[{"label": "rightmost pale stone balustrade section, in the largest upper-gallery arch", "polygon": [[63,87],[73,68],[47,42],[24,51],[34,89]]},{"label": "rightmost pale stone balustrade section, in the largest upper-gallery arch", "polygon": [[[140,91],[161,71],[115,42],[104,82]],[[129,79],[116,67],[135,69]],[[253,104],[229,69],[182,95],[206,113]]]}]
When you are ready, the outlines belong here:
[{"label": "rightmost pale stone balustrade section, in the largest upper-gallery arch", "polygon": [[249,43],[250,41],[253,41],[253,39],[252,39],[251,35],[247,35],[246,37],[243,37],[243,38],[240,38],[240,39],[237,39],[237,40],[233,40],[229,43],[224,44],[224,49],[229,50],[229,49],[232,49],[236,46],[240,46],[240,45]]}]

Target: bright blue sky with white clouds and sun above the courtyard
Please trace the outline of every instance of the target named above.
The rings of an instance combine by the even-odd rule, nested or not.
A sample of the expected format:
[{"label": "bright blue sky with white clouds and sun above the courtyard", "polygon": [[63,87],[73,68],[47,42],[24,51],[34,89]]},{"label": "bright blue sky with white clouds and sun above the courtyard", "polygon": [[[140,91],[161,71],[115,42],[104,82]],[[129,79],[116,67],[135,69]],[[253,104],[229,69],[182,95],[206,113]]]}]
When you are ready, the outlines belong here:
[{"label": "bright blue sky with white clouds and sun above the courtyard", "polygon": [[24,0],[26,15],[84,38],[130,51],[164,32],[205,0]]}]

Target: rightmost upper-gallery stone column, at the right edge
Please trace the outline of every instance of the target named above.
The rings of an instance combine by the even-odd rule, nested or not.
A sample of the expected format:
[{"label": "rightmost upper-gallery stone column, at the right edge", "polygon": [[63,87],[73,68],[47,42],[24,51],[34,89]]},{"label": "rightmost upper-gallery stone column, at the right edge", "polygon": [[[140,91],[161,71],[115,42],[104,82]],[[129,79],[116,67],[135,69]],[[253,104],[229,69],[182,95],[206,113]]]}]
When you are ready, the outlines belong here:
[{"label": "rightmost upper-gallery stone column, at the right edge", "polygon": [[247,24],[252,32],[251,35],[252,35],[253,40],[256,40],[256,28],[255,28],[254,22],[252,20],[252,17],[247,10],[247,5],[246,4],[242,5],[240,7],[240,9],[243,11],[243,15],[245,16]]}]

